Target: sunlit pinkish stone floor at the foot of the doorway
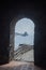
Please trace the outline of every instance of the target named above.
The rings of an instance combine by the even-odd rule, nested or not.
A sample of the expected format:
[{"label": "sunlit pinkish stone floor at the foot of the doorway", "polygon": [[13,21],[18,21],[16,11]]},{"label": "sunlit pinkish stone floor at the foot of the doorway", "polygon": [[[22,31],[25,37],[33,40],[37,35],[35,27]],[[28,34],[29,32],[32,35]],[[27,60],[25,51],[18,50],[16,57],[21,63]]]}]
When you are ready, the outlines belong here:
[{"label": "sunlit pinkish stone floor at the foot of the doorway", "polygon": [[33,62],[11,61],[10,64],[0,66],[0,70],[44,70],[35,67]]}]

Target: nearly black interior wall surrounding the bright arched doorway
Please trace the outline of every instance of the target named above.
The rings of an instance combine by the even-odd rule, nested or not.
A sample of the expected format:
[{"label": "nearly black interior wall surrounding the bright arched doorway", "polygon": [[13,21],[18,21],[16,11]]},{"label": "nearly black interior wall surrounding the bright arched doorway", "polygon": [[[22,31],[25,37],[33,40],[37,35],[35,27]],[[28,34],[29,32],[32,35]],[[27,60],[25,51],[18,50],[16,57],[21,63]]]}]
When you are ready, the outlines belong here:
[{"label": "nearly black interior wall surrounding the bright arched doorway", "polygon": [[[46,8],[45,2],[3,2],[0,4],[0,65],[10,61],[10,24],[15,18],[28,17],[35,24],[34,65],[46,67]],[[13,24],[14,25],[14,24]]]}]

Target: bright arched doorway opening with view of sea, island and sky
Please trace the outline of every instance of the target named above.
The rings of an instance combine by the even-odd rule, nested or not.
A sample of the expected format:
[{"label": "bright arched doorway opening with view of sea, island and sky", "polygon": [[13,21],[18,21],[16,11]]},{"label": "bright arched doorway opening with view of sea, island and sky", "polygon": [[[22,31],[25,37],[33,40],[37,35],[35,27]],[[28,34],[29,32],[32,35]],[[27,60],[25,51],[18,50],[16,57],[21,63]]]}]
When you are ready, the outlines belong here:
[{"label": "bright arched doorway opening with view of sea, island and sky", "polygon": [[14,60],[34,61],[34,23],[30,18],[15,25]]}]

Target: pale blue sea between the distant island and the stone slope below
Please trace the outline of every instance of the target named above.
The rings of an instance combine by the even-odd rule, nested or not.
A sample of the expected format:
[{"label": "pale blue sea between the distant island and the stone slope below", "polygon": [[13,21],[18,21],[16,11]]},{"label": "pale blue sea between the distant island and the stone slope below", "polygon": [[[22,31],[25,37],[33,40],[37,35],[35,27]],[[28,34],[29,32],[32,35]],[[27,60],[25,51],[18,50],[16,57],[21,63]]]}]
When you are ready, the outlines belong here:
[{"label": "pale blue sea between the distant island and the stone slope below", "polygon": [[17,50],[19,47],[19,44],[29,44],[29,45],[34,45],[34,36],[29,34],[29,36],[15,36],[14,39],[14,50]]}]

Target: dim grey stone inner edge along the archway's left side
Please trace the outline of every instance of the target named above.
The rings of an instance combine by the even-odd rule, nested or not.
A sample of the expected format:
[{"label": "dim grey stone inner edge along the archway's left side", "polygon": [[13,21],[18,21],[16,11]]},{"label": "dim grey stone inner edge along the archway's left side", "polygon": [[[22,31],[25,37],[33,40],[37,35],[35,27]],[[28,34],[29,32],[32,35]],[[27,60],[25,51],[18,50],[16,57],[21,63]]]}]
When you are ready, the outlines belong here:
[{"label": "dim grey stone inner edge along the archway's left side", "polygon": [[17,17],[17,18],[14,17],[10,25],[10,50],[11,50],[10,51],[10,60],[13,60],[13,58],[14,58],[15,25],[16,25],[16,22],[21,18],[24,18],[24,16]]}]

